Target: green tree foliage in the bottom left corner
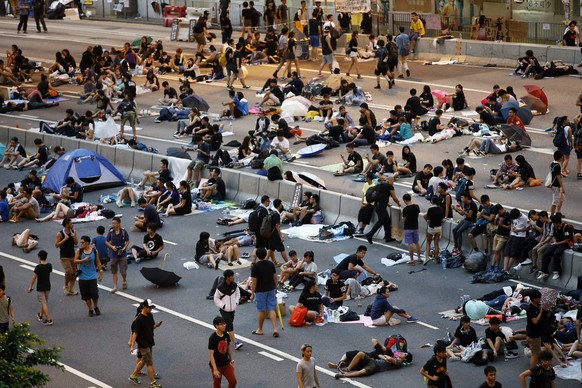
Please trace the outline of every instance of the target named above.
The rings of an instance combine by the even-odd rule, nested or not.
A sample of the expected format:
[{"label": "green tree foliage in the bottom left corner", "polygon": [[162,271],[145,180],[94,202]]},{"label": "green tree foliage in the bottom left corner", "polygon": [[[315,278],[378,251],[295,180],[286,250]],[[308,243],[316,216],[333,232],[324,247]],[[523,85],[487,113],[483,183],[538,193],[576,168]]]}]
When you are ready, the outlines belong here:
[{"label": "green tree foliage in the bottom left corner", "polygon": [[46,385],[50,376],[36,369],[38,365],[64,369],[59,363],[61,348],[46,348],[43,344],[28,323],[15,324],[6,335],[0,334],[0,388]]}]

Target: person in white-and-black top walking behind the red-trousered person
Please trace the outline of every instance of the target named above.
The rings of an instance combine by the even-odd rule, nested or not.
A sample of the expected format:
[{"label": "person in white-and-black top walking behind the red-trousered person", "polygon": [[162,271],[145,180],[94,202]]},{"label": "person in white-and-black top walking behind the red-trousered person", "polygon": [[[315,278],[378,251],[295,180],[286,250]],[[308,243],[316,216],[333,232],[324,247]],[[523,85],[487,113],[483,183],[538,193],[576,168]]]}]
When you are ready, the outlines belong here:
[{"label": "person in white-and-black top walking behind the red-trousered person", "polygon": [[234,311],[240,303],[240,289],[234,281],[234,271],[227,269],[223,273],[223,281],[214,292],[214,304],[218,307],[220,316],[226,322],[226,331],[230,341],[234,343],[234,349],[239,350],[243,343],[236,340],[234,335]]}]

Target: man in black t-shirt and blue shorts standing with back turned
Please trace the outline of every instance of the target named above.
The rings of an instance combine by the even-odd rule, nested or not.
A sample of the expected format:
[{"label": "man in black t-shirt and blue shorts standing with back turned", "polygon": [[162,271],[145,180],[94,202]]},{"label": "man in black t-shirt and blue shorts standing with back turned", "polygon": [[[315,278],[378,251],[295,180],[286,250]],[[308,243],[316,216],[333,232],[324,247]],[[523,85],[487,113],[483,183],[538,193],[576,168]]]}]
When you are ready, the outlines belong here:
[{"label": "man in black t-shirt and blue shorts standing with back turned", "polygon": [[267,317],[273,324],[273,337],[277,338],[279,337],[277,317],[275,316],[275,307],[277,306],[277,270],[272,262],[265,260],[266,257],[267,250],[258,248],[257,258],[259,260],[253,264],[251,269],[253,288],[250,300],[255,300],[258,314],[258,327],[252,334],[263,335],[263,323],[265,322],[265,317]]}]

